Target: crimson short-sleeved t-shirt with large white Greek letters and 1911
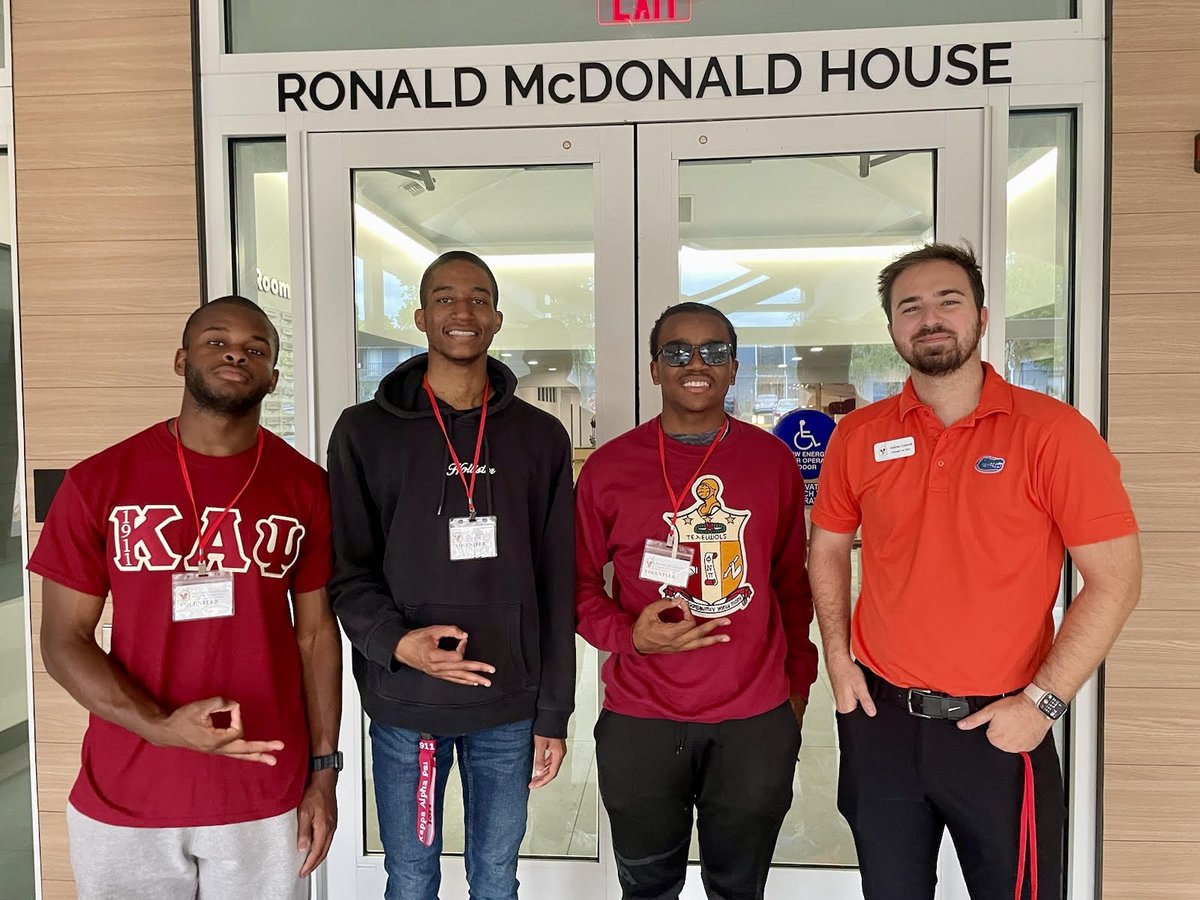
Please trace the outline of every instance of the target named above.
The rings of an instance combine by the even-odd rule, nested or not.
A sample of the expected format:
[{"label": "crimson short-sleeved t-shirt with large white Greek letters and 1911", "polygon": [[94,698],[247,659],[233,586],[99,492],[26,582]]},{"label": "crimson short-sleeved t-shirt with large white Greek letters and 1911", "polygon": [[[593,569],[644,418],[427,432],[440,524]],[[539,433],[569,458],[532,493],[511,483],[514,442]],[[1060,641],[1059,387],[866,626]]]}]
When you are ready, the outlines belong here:
[{"label": "crimson short-sleeved t-shirt with large white Greek letters and 1911", "polygon": [[92,715],[71,803],[108,824],[167,828],[277,816],[299,805],[307,780],[308,728],[288,594],[329,581],[325,473],[265,432],[257,470],[254,448],[228,457],[184,452],[204,528],[247,485],[209,545],[214,568],[233,572],[233,616],[172,620],[172,574],[184,570],[185,556],[194,562],[196,515],[164,422],[67,473],[29,569],[85,594],[112,595],[110,655],[164,707],[235,700],[247,740],[277,739],[284,748],[271,767],[155,746]]}]

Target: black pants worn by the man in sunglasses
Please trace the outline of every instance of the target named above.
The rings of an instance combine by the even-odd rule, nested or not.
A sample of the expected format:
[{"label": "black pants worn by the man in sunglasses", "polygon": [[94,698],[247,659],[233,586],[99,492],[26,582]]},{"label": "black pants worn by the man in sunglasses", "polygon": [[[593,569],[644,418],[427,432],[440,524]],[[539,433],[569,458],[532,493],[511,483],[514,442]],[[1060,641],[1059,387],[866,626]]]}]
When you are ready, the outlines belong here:
[{"label": "black pants worn by the man in sunglasses", "polygon": [[679,896],[695,808],[710,900],[761,900],[800,750],[790,704],[716,725],[605,710],[595,738],[623,896]]}]

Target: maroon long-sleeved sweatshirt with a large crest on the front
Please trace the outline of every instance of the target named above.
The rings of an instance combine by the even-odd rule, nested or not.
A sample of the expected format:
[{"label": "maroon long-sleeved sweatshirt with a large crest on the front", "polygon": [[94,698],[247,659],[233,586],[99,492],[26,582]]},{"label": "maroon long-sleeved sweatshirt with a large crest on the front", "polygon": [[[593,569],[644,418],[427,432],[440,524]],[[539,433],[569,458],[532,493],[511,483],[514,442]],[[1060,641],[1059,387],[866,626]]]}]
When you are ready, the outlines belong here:
[{"label": "maroon long-sleeved sweatshirt with a large crest on the front", "polygon": [[[676,529],[695,551],[686,588],[638,577],[646,539],[666,540],[671,499],[652,420],[598,449],[576,486],[575,604],[578,632],[612,654],[605,708],[624,715],[718,722],[808,697],[817,652],[804,569],[804,481],[782,442],[730,419],[730,430],[682,497]],[[678,497],[709,448],[667,438]],[[613,563],[612,596],[604,566]],[[685,596],[697,620],[728,618],[728,643],[641,655],[634,622],[650,602]]]}]

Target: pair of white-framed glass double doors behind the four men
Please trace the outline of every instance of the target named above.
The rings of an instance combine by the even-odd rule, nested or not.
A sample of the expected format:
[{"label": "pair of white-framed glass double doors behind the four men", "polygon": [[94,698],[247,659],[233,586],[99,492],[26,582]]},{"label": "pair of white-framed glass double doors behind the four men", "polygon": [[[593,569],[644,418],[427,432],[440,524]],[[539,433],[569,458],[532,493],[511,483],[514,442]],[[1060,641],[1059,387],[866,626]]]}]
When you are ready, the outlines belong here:
[{"label": "pair of white-framed glass double doors behind the four men", "polygon": [[[875,276],[934,236],[986,250],[983,132],[983,112],[966,110],[652,125],[636,137],[632,126],[311,134],[316,445],[323,456],[341,410],[424,349],[418,281],[451,248],[496,271],[505,324],[492,352],[521,396],[560,416],[577,466],[659,412],[644,348],[654,319],[685,299],[718,306],[738,329],[727,408],[742,419],[769,428],[793,408],[836,416],[888,396],[906,370]],[[620,895],[592,744],[599,659],[582,641],[578,650],[568,758],[530,800],[518,870],[530,898]],[[343,700],[342,824],[324,889],[379,896],[371,749],[348,672]],[[449,784],[442,895],[458,900],[461,796],[456,776]],[[822,677],[768,895],[860,899],[835,793]],[[966,896],[955,868],[944,852],[942,900]],[[703,896],[698,871],[683,896]]]}]

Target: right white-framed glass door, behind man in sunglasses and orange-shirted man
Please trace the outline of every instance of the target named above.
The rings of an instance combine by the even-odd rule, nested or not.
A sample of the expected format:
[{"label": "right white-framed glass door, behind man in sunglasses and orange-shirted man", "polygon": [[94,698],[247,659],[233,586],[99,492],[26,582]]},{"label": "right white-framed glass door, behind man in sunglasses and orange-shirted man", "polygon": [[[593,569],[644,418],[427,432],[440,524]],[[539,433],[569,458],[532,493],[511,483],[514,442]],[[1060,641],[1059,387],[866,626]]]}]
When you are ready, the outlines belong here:
[{"label": "right white-framed glass door, behind man in sunglasses and orange-shirted man", "polygon": [[[766,430],[792,409],[838,419],[896,394],[907,366],[876,277],[935,238],[986,252],[983,122],[974,109],[638,128],[638,346],[671,304],[721,310],[738,331],[726,409]],[[644,421],[660,398],[646,365],[638,377]],[[820,647],[815,623],[812,636]],[[862,896],[833,713],[822,671],[768,895]],[[966,898],[956,869],[947,844],[943,900]],[[684,896],[703,896],[698,871]]]}]

